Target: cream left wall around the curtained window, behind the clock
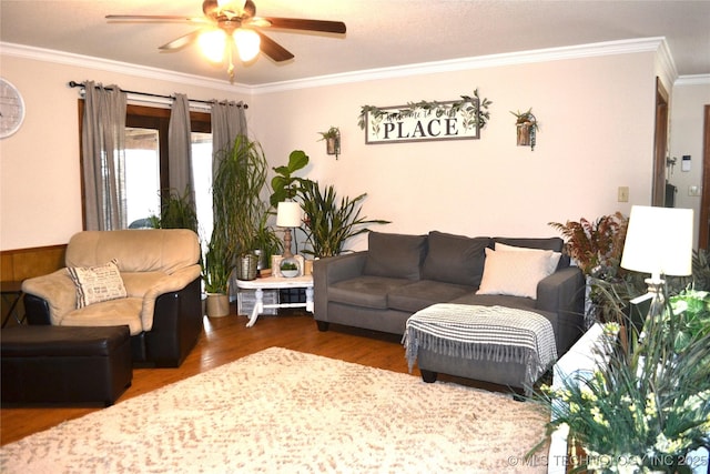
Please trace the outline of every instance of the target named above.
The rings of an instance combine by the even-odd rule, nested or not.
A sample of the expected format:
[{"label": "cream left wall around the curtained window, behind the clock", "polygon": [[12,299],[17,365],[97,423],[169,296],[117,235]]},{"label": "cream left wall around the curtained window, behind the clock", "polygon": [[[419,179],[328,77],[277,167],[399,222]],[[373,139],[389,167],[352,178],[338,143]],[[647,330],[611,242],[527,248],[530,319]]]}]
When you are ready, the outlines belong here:
[{"label": "cream left wall around the curtained window, behind the clock", "polygon": [[[246,100],[243,93],[185,85],[106,70],[2,56],[2,77],[18,87],[26,119],[12,137],[0,140],[0,249],[62,244],[82,229],[79,164],[79,89],[69,81],[190,99]],[[206,82],[206,81],[205,81]]]}]

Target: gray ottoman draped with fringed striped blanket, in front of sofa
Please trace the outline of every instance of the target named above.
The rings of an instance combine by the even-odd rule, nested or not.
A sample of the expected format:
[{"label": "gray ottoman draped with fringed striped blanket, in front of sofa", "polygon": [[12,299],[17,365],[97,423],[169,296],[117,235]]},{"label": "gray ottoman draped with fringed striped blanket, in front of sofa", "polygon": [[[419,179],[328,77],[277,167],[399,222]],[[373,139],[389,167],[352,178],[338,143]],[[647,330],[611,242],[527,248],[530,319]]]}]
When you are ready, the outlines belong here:
[{"label": "gray ottoman draped with fringed striped blanket, in front of sofa", "polygon": [[434,304],[413,314],[403,339],[409,371],[438,373],[528,392],[557,360],[550,322],[531,311],[505,306]]}]

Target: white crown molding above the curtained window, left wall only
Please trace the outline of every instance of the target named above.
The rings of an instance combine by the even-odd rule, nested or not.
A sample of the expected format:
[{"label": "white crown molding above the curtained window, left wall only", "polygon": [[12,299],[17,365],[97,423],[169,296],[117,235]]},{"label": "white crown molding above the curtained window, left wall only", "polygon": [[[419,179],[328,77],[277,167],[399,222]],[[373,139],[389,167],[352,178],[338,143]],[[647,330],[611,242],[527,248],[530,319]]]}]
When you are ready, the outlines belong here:
[{"label": "white crown molding above the curtained window, left wall only", "polygon": [[182,72],[169,71],[166,69],[149,68],[145,65],[111,61],[103,58],[74,54],[71,52],[55,51],[7,42],[0,42],[0,52],[2,52],[2,54],[16,58],[74,65],[79,68],[100,69],[102,71],[136,75],[145,79],[186,83],[196,87],[223,90],[225,92],[232,93],[239,92],[243,94],[251,94],[251,88],[244,84],[227,84],[224,81],[217,81],[215,79],[210,79],[202,75],[185,74]]}]

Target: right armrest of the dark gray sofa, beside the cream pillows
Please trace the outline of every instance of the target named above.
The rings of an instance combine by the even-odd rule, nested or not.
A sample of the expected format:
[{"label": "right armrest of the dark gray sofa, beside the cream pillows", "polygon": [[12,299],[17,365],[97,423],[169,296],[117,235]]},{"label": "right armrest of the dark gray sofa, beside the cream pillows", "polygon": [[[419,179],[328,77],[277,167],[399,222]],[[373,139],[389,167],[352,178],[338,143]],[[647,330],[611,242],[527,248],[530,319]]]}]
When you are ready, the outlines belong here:
[{"label": "right armrest of the dark gray sofa, beside the cream pillows", "polygon": [[557,314],[558,355],[566,352],[584,332],[585,275],[567,266],[542,279],[537,285],[538,310]]}]

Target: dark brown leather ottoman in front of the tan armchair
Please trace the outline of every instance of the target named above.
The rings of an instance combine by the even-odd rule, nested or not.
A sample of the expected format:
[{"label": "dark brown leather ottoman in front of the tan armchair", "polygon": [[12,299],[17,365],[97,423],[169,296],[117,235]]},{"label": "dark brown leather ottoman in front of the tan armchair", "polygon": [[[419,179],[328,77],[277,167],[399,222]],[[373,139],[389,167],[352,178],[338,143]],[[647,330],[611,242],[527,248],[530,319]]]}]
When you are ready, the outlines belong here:
[{"label": "dark brown leather ottoman in front of the tan armchair", "polygon": [[109,406],[133,379],[129,326],[14,326],[2,330],[0,347],[3,404]]}]

